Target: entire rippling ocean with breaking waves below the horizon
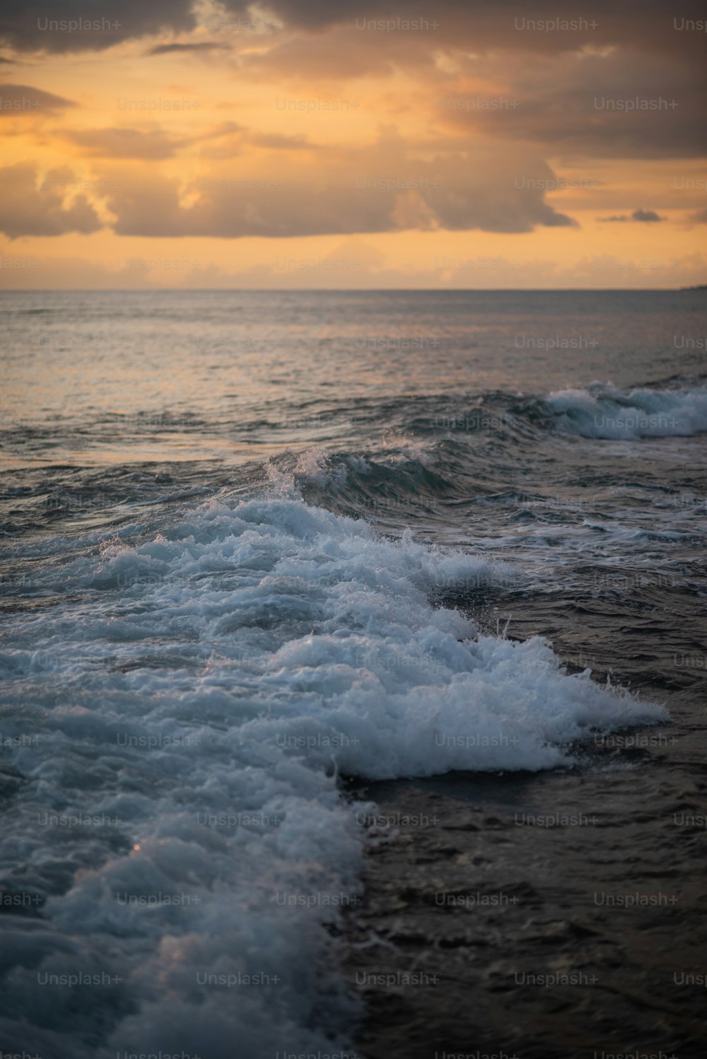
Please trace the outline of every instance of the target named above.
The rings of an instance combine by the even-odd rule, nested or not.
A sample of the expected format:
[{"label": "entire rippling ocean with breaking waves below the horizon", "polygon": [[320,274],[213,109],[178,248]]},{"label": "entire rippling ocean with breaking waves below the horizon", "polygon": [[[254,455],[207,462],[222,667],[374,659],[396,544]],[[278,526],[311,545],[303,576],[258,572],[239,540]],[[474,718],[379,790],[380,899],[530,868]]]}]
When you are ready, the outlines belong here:
[{"label": "entire rippling ocean with breaking waves below the horizon", "polygon": [[[361,927],[371,843],[395,902],[396,805],[452,796],[482,831],[540,813],[513,833],[567,837],[542,890],[597,841],[561,784],[575,816],[620,809],[606,886],[683,902],[650,982],[677,1021],[612,1043],[696,1055],[705,291],[23,292],[0,315],[4,1048],[391,1057],[371,1004],[418,983],[350,970],[385,944]],[[435,848],[428,890],[461,885]],[[442,1029],[400,1055],[458,1047]]]}]

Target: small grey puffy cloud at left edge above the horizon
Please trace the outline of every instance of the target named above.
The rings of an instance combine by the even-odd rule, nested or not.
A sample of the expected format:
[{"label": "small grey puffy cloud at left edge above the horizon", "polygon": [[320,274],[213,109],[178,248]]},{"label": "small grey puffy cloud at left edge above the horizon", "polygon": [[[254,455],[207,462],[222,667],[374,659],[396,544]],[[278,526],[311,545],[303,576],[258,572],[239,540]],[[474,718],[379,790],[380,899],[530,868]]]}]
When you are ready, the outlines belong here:
[{"label": "small grey puffy cloud at left edge above the horizon", "polygon": [[[37,187],[37,167],[29,162],[0,169],[0,231],[11,239],[21,235],[87,235],[102,225],[86,196],[77,195],[65,205],[68,170],[54,170],[50,180]],[[70,174],[70,177],[73,175]],[[57,178],[53,180],[51,178]],[[60,179],[58,179],[60,178]]]}]

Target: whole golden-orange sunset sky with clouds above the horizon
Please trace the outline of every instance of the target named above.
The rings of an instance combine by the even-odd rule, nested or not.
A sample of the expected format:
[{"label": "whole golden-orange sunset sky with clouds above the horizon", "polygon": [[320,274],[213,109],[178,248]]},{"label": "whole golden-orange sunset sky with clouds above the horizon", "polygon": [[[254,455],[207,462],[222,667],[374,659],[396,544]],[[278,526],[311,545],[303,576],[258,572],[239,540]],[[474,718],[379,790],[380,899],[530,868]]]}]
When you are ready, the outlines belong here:
[{"label": "whole golden-orange sunset sky with clouds above the horizon", "polygon": [[0,284],[705,283],[704,19],[693,0],[18,5]]}]

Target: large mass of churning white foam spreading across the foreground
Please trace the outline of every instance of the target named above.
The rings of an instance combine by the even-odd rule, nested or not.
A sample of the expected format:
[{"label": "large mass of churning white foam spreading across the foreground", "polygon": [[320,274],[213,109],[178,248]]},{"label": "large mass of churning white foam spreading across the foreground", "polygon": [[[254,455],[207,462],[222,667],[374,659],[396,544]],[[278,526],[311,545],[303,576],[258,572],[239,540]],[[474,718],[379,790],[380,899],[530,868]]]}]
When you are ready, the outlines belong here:
[{"label": "large mass of churning white foam spreading across the foreground", "polygon": [[[337,773],[551,768],[592,730],[666,716],[429,602],[506,568],[391,543],[277,484],[147,543],[87,537],[37,574],[79,602],[14,615],[5,734],[36,739],[7,748],[26,782],[2,864],[60,896],[6,939],[3,1040],[61,1059],[344,1048],[332,1027],[356,1006],[322,923],[356,899],[362,832]],[[120,823],[42,826],[48,806]],[[37,984],[104,972],[104,992]]]}]

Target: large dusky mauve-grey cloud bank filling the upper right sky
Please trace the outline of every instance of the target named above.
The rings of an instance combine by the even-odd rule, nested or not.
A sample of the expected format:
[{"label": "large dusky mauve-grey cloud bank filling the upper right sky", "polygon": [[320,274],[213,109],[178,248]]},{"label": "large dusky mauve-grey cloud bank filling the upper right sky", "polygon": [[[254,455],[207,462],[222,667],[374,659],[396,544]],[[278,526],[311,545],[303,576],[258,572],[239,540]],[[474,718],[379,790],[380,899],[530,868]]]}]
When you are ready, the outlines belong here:
[{"label": "large dusky mauve-grey cloud bank filling the upper right sky", "polygon": [[[357,31],[356,22],[365,19],[352,16],[326,32],[301,32],[247,50],[237,57],[237,69],[251,82],[320,80],[327,86],[366,75],[393,80],[404,71],[415,85],[400,101],[401,111],[427,116],[431,126],[441,124],[459,137],[482,131],[577,157],[704,157],[707,97],[693,62],[699,34],[675,31],[665,7],[659,17],[649,8],[656,30],[650,47],[641,37],[641,13],[640,18],[634,15],[635,32],[629,32],[621,16],[616,47],[600,47],[600,41],[575,34],[569,50],[561,47],[557,33],[513,32],[513,10],[521,8],[497,6],[503,13],[489,10],[488,21],[478,21],[473,30],[465,29],[463,20],[459,33],[448,40],[439,36],[441,29]],[[432,17],[429,8],[424,14]],[[527,5],[522,15],[528,15]],[[533,11],[534,19],[542,15]],[[455,17],[460,17],[458,11]],[[489,25],[495,30],[485,48]],[[609,13],[605,25],[615,25]],[[660,36],[669,38],[670,47],[660,47]],[[679,39],[682,49],[675,47]],[[347,86],[346,93],[355,95],[356,90]]]}]

